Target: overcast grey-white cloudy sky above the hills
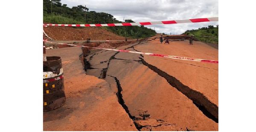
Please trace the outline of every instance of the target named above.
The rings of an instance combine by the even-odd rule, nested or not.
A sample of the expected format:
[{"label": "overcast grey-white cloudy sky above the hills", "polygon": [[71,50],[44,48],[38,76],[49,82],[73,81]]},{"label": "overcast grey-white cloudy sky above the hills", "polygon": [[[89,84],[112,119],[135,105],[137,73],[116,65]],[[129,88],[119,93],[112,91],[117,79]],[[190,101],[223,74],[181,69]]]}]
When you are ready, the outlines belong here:
[{"label": "overcast grey-white cloudy sky above the hills", "polygon": [[[119,21],[135,22],[218,17],[218,0],[61,0],[68,7],[86,5],[89,11],[112,14]],[[65,24],[65,23],[64,23]],[[104,23],[95,23],[104,24]],[[186,30],[216,26],[218,22],[145,26],[157,33],[181,34]]]}]

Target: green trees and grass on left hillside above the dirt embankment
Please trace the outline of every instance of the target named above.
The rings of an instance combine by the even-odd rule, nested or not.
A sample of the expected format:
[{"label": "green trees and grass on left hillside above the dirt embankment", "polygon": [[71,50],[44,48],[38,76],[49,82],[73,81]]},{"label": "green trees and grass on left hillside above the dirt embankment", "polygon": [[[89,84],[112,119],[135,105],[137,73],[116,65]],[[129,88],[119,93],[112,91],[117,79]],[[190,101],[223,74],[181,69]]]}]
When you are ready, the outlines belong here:
[{"label": "green trees and grass on left hillside above the dirt embankment", "polygon": [[[52,4],[52,5],[51,5]],[[67,7],[61,4],[61,0],[43,0],[44,22],[53,24],[104,24],[122,23],[113,15],[104,12],[88,11],[84,6]],[[84,19],[86,11],[86,20]],[[125,20],[125,23],[134,23],[132,20]],[[123,37],[145,38],[152,37],[156,32],[144,26],[110,26],[102,27]]]}]

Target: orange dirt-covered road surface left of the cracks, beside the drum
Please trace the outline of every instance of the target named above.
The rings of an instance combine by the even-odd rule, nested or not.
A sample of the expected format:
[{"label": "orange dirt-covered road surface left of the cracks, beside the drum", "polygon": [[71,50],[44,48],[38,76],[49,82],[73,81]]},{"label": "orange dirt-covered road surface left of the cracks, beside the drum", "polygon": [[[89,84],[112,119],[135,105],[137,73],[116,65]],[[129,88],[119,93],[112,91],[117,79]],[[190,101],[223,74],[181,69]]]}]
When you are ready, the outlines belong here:
[{"label": "orange dirt-covered road surface left of the cracks, beside the drum", "polygon": [[85,74],[80,47],[50,49],[46,55],[61,57],[67,101],[43,112],[44,131],[137,131],[110,85]]}]

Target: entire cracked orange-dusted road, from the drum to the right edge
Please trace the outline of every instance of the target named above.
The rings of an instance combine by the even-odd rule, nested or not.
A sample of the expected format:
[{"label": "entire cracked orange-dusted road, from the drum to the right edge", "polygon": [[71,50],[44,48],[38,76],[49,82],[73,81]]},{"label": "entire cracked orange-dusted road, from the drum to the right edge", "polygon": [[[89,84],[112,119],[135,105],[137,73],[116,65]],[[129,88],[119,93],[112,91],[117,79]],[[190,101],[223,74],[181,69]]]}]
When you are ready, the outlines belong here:
[{"label": "entire cracked orange-dusted road, from the drum to the right edge", "polygon": [[[218,49],[198,41],[189,45],[188,40],[170,44],[161,44],[159,39],[148,40],[116,49],[218,60]],[[72,63],[77,63],[79,70],[77,66],[71,68],[63,65],[64,75],[70,71],[74,73],[67,77],[73,80],[72,83],[64,80],[67,83],[65,93],[68,106],[59,109],[71,109],[73,106],[71,110],[74,112],[68,112],[70,109],[58,110],[59,116],[54,121],[49,116],[57,111],[44,112],[44,130],[68,131],[73,126],[76,128],[73,130],[82,131],[218,131],[218,64],[98,49],[91,50],[91,54],[84,55],[84,59],[86,64],[90,64],[86,73],[82,71],[86,66],[79,65],[77,58]],[[156,70],[152,70],[152,66]],[[75,74],[80,74],[77,76],[80,78]],[[174,79],[168,79],[170,76]],[[84,81],[87,79],[95,83]],[[182,85],[177,85],[173,80],[180,81]],[[66,89],[71,84],[76,88]],[[183,86],[186,86],[185,91],[182,90]],[[104,88],[104,92],[97,87]],[[200,97],[194,98],[191,91],[199,93]],[[76,104],[79,101],[80,106]],[[76,115],[76,112],[80,114]],[[105,123],[108,125],[103,125]]]}]

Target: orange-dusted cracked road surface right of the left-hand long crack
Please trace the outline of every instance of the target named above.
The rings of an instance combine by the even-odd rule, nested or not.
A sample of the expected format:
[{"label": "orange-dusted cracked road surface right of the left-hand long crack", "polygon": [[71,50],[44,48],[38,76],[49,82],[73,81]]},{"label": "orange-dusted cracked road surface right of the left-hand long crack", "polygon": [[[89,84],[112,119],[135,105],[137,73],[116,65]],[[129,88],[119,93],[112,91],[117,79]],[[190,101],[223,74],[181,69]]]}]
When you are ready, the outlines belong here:
[{"label": "orange-dusted cracked road surface right of the left-hand long crack", "polygon": [[[158,39],[148,39],[116,49],[218,60],[218,49],[198,41],[194,43],[189,45],[185,40],[161,44]],[[99,61],[103,60],[99,58],[104,58],[108,66],[101,64]],[[171,84],[166,79],[168,77],[160,76],[160,73],[145,66],[142,59],[180,82]],[[177,130],[218,130],[218,64],[126,52],[99,52],[91,57],[89,63],[91,67],[100,65],[102,69],[107,69],[105,80],[110,83],[111,89],[116,89],[116,81],[111,79],[116,77],[122,87],[122,100],[128,107],[128,114],[136,119],[143,120],[140,111],[147,111],[151,115],[147,119],[166,121]],[[97,77],[99,73],[92,75]],[[180,84],[182,86],[176,86]],[[117,90],[113,91],[117,93]],[[174,129],[164,125],[161,128],[152,127],[148,124],[139,130]]]}]

